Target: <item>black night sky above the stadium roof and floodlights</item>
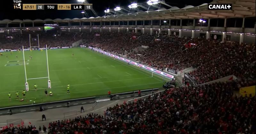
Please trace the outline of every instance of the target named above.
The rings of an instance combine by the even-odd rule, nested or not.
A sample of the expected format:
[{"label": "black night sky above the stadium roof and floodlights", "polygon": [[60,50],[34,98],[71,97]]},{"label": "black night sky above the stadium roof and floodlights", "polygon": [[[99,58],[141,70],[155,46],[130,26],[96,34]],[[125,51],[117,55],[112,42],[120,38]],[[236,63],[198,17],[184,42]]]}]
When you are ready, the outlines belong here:
[{"label": "black night sky above the stadium roof and floodlights", "polygon": [[[76,0],[21,0],[22,4],[78,4]],[[104,10],[106,9],[113,9],[116,6],[123,6],[127,7],[129,4],[133,2],[137,3],[144,3],[146,4],[147,0],[87,0],[88,3],[93,4],[93,9],[97,12],[99,16],[104,16]],[[198,6],[204,3],[210,3],[212,0],[165,0],[165,3],[171,6],[177,6],[179,8],[183,8],[186,5],[193,5]],[[44,10],[28,10],[28,11],[19,11],[13,10],[13,1],[12,0],[5,0],[0,4],[0,20],[3,19],[65,19],[65,18],[83,18],[81,11],[74,10],[74,11],[44,11]],[[185,5],[186,4],[186,5]],[[128,7],[127,7],[128,8]],[[91,11],[87,12],[88,15],[91,17],[95,17]]]}]

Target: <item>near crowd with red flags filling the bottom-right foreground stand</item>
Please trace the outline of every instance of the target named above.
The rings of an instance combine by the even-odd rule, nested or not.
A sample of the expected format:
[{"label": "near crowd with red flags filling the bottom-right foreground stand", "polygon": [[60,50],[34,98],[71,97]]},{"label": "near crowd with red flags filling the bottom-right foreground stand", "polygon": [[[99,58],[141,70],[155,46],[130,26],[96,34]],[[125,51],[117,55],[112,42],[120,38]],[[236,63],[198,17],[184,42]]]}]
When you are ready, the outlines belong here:
[{"label": "near crowd with red flags filling the bottom-right foreground stand", "polygon": [[[165,90],[144,99],[116,104],[105,115],[92,113],[51,122],[48,133],[253,134],[256,96],[234,95],[240,84],[231,81]],[[26,133],[22,128],[2,133],[14,130]]]}]

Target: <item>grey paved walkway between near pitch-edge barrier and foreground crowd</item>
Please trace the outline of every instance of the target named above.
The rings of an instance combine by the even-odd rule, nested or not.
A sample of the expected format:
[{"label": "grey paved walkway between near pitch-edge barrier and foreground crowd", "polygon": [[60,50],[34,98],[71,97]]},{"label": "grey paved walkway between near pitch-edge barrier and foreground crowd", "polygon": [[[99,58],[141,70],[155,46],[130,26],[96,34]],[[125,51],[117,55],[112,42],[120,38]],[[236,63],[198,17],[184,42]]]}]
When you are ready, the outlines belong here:
[{"label": "grey paved walkway between near pitch-edge barrier and foreground crowd", "polygon": [[[48,109],[42,112],[34,111],[34,112],[25,112],[25,113],[13,114],[13,115],[2,115],[0,116],[1,118],[0,127],[7,125],[7,120],[21,119],[24,122],[25,126],[35,125],[36,129],[38,130],[39,126],[43,127],[44,125],[48,129],[48,125],[50,122],[58,121],[58,120],[61,121],[69,118],[73,119],[77,116],[83,117],[84,115],[87,115],[90,113],[104,115],[104,111],[108,107],[113,107],[116,104],[123,104],[124,101],[131,100],[131,99],[132,98],[99,102],[93,109],[92,109],[92,106],[94,104],[92,103],[92,104],[86,104],[86,105],[73,106],[69,108],[66,107],[66,108]],[[80,108],[82,106],[84,107],[84,112],[81,113]],[[64,118],[63,114],[71,111],[77,111],[77,115],[72,115]],[[46,116],[46,121],[42,121],[43,114]]]}]

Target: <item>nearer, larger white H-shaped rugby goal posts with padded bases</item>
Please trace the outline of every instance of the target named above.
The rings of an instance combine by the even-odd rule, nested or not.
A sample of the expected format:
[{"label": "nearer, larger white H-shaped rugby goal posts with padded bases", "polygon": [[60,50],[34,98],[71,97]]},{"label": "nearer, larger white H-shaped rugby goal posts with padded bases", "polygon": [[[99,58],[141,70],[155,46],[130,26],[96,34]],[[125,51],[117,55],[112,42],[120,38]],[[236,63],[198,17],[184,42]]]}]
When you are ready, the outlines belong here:
[{"label": "nearer, larger white H-shaped rugby goal posts with padded bases", "polygon": [[47,45],[46,45],[46,63],[47,63],[47,77],[40,77],[40,78],[27,78],[27,71],[26,71],[26,62],[25,62],[25,54],[24,54],[24,46],[22,46],[22,51],[23,51],[23,61],[24,61],[24,70],[25,70],[25,79],[26,79],[26,83],[25,83],[25,87],[26,87],[26,91],[29,91],[29,86],[28,86],[28,80],[29,79],[40,79],[40,78],[48,78],[48,88],[52,88],[51,87],[51,80],[50,80],[50,75],[49,75],[49,65],[48,65],[48,52],[47,52]]}]

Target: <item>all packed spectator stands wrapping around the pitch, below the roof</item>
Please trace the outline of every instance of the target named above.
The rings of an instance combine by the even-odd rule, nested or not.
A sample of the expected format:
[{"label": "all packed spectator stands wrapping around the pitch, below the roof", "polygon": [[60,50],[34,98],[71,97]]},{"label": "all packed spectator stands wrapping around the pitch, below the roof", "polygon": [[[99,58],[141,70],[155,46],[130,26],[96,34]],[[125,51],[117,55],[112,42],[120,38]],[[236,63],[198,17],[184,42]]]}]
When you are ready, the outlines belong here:
[{"label": "all packed spectator stands wrapping around the pitch, below the roof", "polygon": [[[37,134],[41,129],[49,134],[256,133],[255,42],[206,39],[205,36],[192,38],[166,32],[28,30],[22,34],[1,33],[0,53],[4,56],[5,50],[30,49],[37,43],[47,45],[48,49],[74,47],[76,41],[81,41],[76,47],[97,48],[166,73],[171,69],[184,74],[182,71],[190,68],[185,75],[191,79],[182,75],[180,79],[175,78],[179,86],[145,97],[139,97],[139,93],[132,101],[124,99],[123,103],[109,106],[101,114],[89,112],[52,122],[46,120],[40,129],[31,123],[36,119],[17,126],[0,123],[0,134]],[[241,92],[241,88],[250,86],[254,86],[254,93]]]}]

